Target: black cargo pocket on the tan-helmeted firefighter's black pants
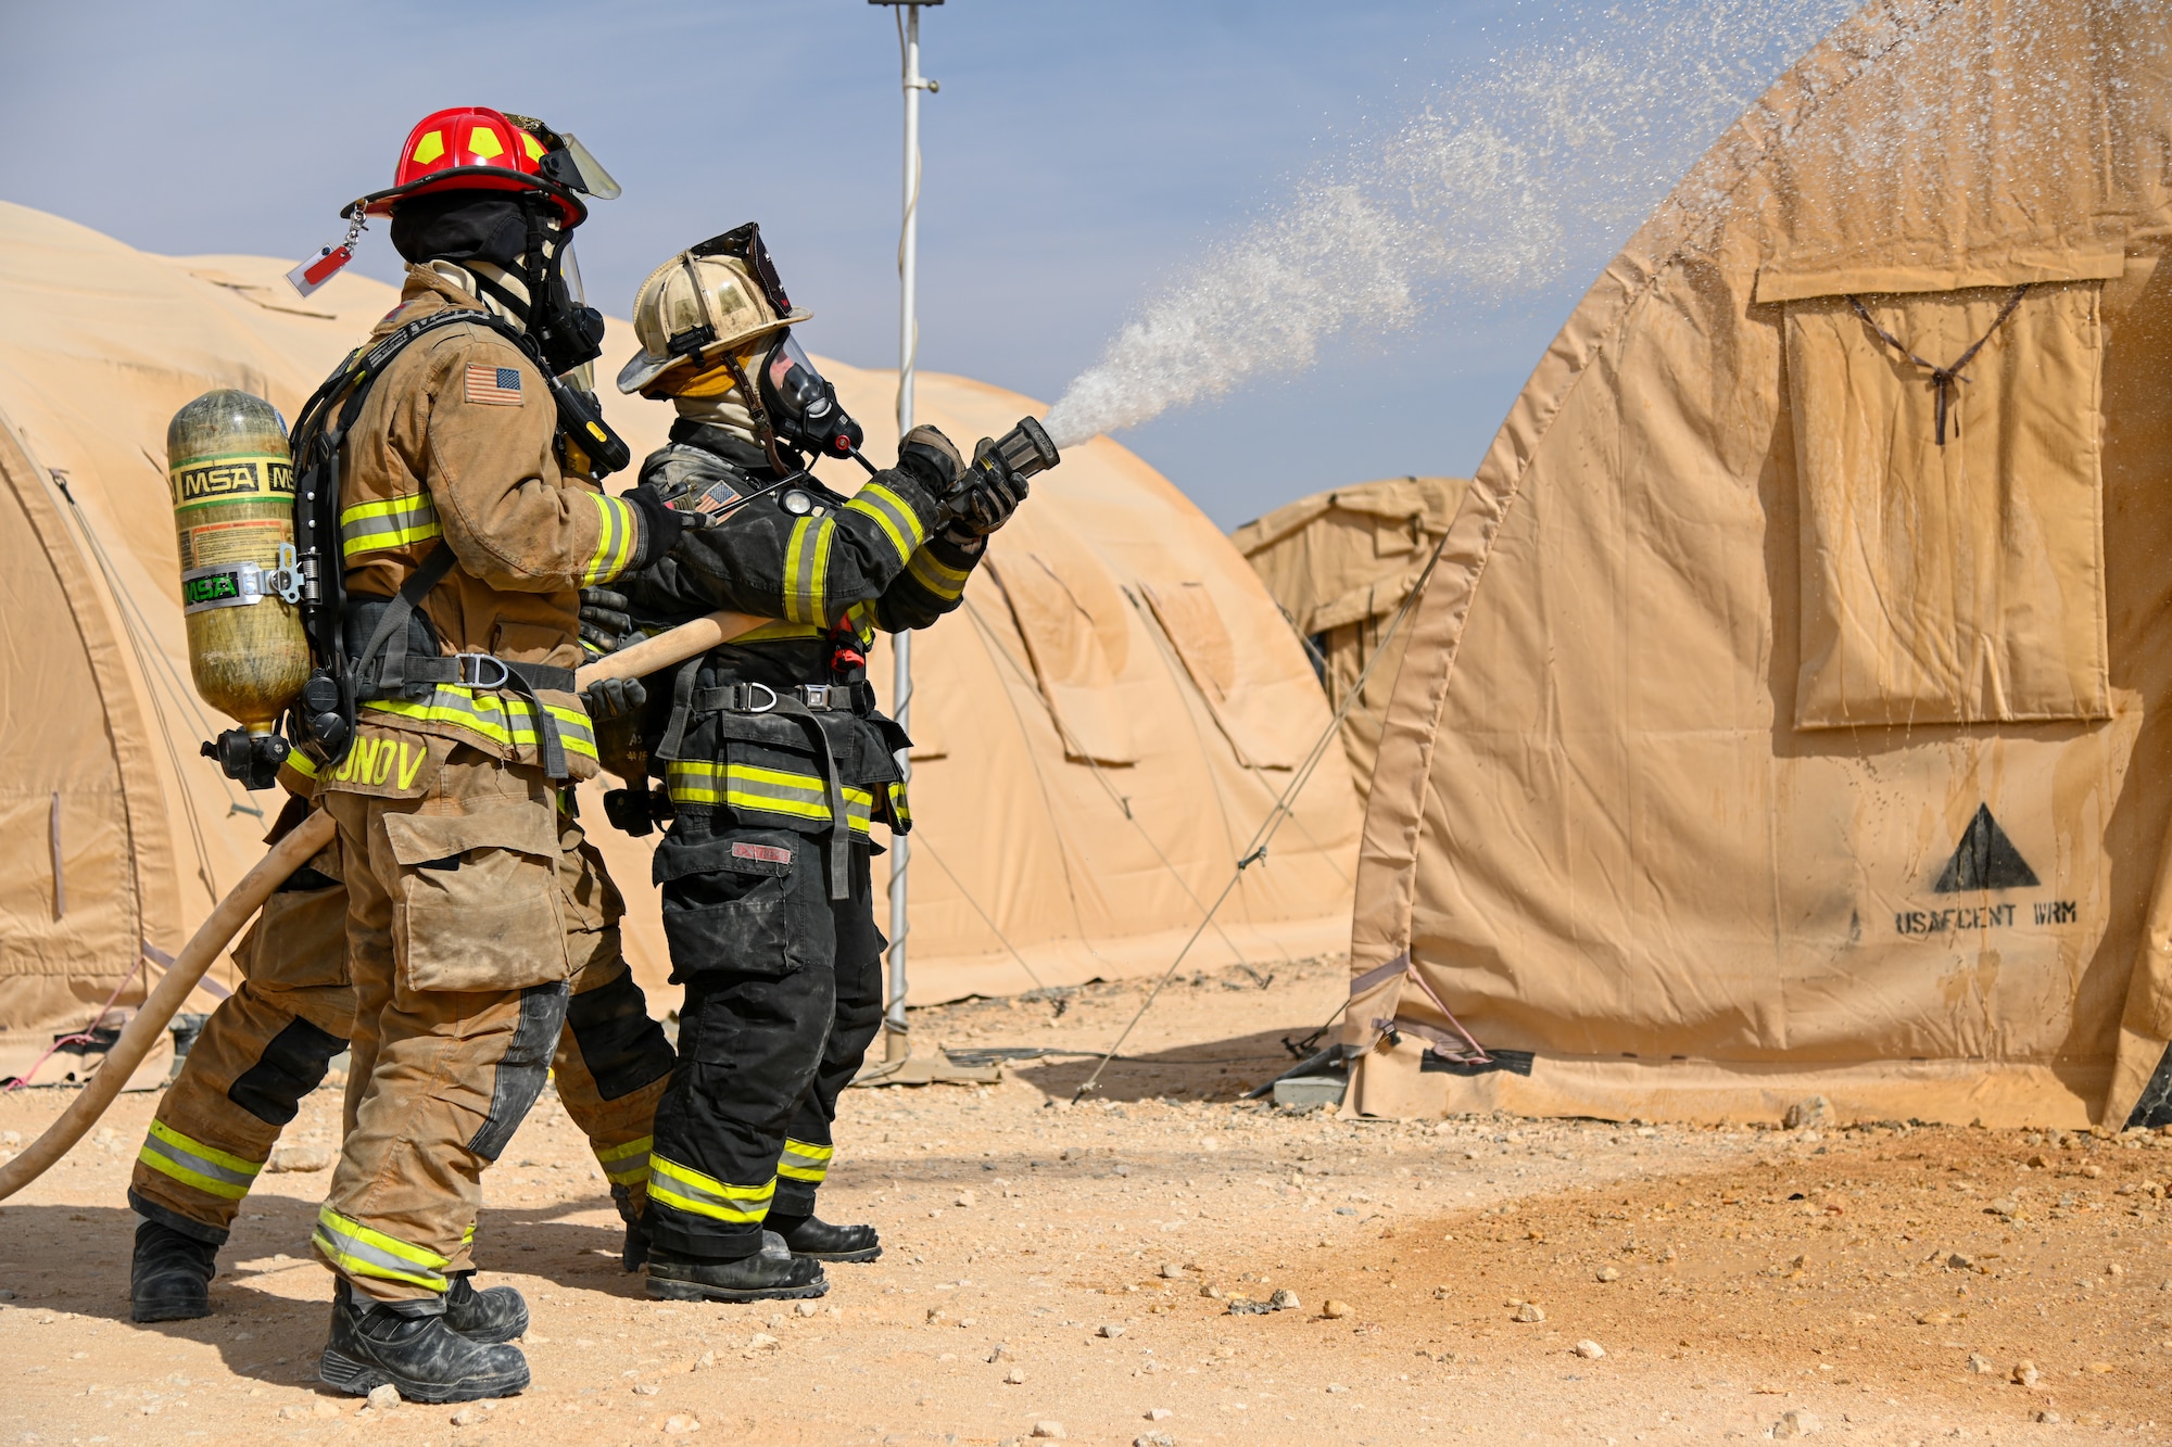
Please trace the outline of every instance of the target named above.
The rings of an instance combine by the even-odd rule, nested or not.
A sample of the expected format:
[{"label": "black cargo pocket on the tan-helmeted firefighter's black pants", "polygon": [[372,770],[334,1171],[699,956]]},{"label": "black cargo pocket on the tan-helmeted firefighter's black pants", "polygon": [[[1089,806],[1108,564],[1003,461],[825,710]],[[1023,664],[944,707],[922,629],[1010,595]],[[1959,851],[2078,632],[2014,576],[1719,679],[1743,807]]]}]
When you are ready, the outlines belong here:
[{"label": "black cargo pocket on the tan-helmeted firefighter's black pants", "polygon": [[671,980],[706,969],[782,978],[825,956],[815,934],[830,910],[804,897],[815,860],[819,850],[786,830],[656,845]]}]

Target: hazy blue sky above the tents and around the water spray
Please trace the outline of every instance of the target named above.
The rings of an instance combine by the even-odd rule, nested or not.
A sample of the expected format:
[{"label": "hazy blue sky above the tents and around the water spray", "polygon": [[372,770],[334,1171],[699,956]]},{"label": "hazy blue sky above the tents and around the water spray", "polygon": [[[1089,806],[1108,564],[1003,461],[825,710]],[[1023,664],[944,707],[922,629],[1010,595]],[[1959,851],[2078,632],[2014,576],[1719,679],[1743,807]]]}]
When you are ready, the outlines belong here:
[{"label": "hazy blue sky above the tents and around the water spray", "polygon": [[[493,104],[576,130],[626,185],[580,239],[606,311],[623,315],[671,250],[760,219],[795,300],[817,311],[810,348],[895,365],[888,9],[4,7],[4,200],[146,250],[300,256],[337,239],[345,200],[389,180],[426,111]],[[1846,9],[1788,7],[1820,24]],[[1640,7],[1640,24],[1653,13]],[[923,65],[943,91],[923,106],[921,365],[1043,400],[1142,295],[1271,215],[1308,172],[1499,80],[1503,56],[1605,46],[1620,28],[1566,0],[951,0],[923,15]],[[1768,76],[1785,59],[1751,65]],[[1653,76],[1642,104],[1664,115],[1668,85]],[[1672,150],[1644,161],[1651,174],[1622,180],[1633,211],[1722,124],[1690,111]],[[1353,328],[1303,376],[1255,380],[1121,441],[1223,526],[1342,482],[1466,474],[1622,230],[1586,228],[1507,300],[1447,295],[1410,328]],[[397,274],[378,232],[358,265]]]}]

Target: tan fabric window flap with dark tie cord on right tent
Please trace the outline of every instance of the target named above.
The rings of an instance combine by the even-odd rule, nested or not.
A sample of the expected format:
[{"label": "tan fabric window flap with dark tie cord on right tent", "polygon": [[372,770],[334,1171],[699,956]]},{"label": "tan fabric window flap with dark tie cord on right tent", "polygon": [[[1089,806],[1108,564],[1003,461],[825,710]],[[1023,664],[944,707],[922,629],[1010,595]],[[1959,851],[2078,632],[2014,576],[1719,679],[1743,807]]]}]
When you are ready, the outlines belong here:
[{"label": "tan fabric window flap with dark tie cord on right tent", "polygon": [[1785,304],[1796,728],[2109,717],[2098,295]]}]

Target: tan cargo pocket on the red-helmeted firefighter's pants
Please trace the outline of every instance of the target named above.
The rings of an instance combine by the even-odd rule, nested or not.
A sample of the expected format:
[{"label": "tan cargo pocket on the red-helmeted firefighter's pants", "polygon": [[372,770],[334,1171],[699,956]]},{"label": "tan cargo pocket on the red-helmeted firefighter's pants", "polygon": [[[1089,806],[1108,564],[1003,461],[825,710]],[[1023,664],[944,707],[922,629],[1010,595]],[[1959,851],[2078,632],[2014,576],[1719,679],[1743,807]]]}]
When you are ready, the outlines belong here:
[{"label": "tan cargo pocket on the red-helmeted firefighter's pants", "polygon": [[415,991],[565,980],[558,828],[550,808],[384,815],[400,863],[393,947]]}]

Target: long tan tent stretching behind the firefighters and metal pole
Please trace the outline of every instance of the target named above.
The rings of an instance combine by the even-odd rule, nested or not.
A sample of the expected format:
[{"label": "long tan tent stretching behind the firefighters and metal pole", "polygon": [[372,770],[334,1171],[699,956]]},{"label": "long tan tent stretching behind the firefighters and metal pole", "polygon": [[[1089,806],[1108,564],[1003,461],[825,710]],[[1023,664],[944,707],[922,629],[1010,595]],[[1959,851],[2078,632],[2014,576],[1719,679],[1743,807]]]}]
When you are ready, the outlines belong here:
[{"label": "long tan tent stretching behind the firefighters and metal pole", "polygon": [[[291,415],[395,300],[356,276],[300,300],[285,267],[152,256],[0,204],[0,1075],[80,1028],[141,954],[178,949],[263,852],[276,795],[195,752],[228,724],[189,684],[163,448],[172,413],[211,387]],[[615,324],[610,365],[630,348]],[[888,456],[895,378],[825,367]],[[662,406],[606,406],[636,454],[662,441]],[[923,419],[967,441],[1025,411],[921,378]],[[1097,439],[1034,493],[971,608],[917,652],[914,997],[1160,969],[1327,726],[1273,602],[1153,469]],[[888,678],[886,658],[875,669]],[[1340,947],[1358,813],[1331,765],[1245,871],[1201,965]],[[630,954],[660,986],[654,839],[613,832],[593,804],[632,902]]]}]

